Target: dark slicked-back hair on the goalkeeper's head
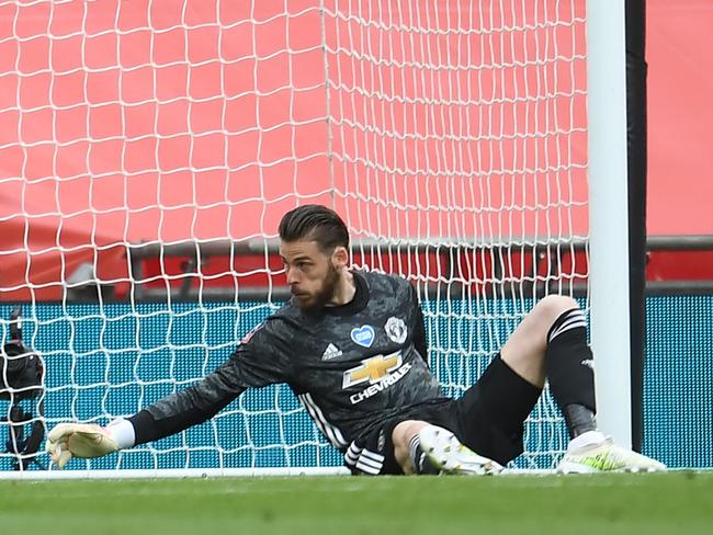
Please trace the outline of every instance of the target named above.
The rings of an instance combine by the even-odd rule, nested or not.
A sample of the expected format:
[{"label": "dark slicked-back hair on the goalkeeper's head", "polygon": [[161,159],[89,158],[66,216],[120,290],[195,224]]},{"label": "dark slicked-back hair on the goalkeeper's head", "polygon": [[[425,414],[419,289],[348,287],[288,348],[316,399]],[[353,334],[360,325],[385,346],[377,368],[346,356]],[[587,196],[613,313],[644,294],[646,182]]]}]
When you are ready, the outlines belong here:
[{"label": "dark slicked-back hair on the goalkeeper's head", "polygon": [[319,204],[305,204],[287,212],[280,221],[282,241],[314,240],[322,251],[349,249],[349,230],[341,217]]}]

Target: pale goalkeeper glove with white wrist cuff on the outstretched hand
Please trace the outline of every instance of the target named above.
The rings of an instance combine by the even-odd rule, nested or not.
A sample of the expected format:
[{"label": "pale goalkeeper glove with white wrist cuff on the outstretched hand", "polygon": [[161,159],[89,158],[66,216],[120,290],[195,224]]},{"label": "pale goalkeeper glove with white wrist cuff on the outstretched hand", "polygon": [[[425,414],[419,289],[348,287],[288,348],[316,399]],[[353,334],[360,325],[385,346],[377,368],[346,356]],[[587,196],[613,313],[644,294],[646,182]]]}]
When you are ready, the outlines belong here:
[{"label": "pale goalkeeper glove with white wrist cuff on the outstretched hand", "polygon": [[[106,428],[94,423],[60,423],[47,434],[45,447],[52,460],[63,469],[72,457],[93,458],[116,452],[120,448],[116,431],[126,429],[127,425],[132,428],[126,420],[112,422]],[[131,434],[133,435],[133,428]],[[126,445],[131,444],[121,444]]]}]

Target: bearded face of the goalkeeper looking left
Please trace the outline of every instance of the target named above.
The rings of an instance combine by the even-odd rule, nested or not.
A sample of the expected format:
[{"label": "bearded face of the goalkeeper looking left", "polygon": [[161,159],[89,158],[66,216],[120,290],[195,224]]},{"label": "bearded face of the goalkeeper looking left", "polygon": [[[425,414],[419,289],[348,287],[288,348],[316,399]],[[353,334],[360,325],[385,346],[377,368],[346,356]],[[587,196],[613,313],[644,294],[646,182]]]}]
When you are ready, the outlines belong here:
[{"label": "bearded face of the goalkeeper looking left", "polygon": [[316,310],[329,303],[340,277],[337,257],[324,252],[316,241],[280,243],[280,255],[285,264],[287,284],[303,310]]}]

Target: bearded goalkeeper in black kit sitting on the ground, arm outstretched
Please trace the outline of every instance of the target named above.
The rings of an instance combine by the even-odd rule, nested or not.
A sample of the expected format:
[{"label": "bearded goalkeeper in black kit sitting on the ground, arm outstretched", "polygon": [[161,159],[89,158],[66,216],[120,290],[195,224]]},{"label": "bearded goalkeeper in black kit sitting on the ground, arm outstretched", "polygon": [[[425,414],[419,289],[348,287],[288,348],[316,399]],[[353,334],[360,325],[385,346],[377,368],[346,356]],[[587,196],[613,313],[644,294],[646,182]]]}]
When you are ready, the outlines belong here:
[{"label": "bearded goalkeeper in black kit sitting on the ground, arm outstretched", "polygon": [[574,299],[541,299],[476,384],[444,398],[415,288],[350,271],[349,234],[329,208],[295,208],[279,231],[292,299],[195,385],[104,428],[55,426],[47,449],[59,468],[172,435],[248,388],[286,383],[352,474],[494,474],[522,453],[546,378],[570,436],[559,471],[665,469],[597,430],[592,354]]}]

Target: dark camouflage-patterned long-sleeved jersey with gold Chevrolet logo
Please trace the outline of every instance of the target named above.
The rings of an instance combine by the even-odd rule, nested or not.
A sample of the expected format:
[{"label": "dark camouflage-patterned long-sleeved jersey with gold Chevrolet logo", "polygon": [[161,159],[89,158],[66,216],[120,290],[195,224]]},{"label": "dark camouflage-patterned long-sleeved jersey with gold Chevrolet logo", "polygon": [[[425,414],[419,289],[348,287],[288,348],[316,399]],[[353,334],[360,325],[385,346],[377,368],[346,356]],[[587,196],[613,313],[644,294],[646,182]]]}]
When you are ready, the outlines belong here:
[{"label": "dark camouflage-patterned long-sleeved jersey with gold Chevrolet logo", "polygon": [[248,388],[286,383],[344,452],[386,420],[441,398],[414,287],[394,275],[353,275],[349,304],[309,312],[292,299],[211,375],[132,417],[136,443],[201,423]]}]

